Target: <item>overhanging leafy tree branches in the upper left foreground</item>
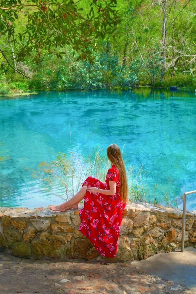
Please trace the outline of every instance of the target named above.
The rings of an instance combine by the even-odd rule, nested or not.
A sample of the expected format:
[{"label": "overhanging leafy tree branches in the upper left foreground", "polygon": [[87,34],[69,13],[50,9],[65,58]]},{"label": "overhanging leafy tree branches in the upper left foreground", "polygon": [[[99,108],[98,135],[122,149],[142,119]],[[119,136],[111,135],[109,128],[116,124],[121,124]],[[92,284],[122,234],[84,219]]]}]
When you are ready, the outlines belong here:
[{"label": "overhanging leafy tree branches in the upper left foreground", "polygon": [[[1,35],[16,47],[18,61],[24,61],[34,51],[34,59],[39,63],[42,49],[61,59],[66,54],[66,45],[79,52],[78,60],[92,61],[91,48],[95,48],[96,40],[113,34],[120,19],[116,0],[85,1],[85,5],[84,10],[80,3],[70,0],[1,1]],[[21,17],[25,25],[19,31]],[[2,47],[0,50],[6,59]]]}]

